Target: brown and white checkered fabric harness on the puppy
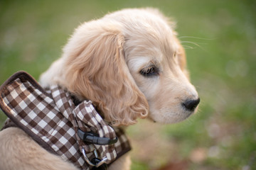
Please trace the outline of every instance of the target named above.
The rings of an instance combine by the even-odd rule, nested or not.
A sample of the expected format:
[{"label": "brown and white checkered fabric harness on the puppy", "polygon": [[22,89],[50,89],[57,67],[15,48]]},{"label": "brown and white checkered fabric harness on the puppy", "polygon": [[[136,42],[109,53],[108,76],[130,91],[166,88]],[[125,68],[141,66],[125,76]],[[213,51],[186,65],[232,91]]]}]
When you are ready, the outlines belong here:
[{"label": "brown and white checkered fabric harness on the puppy", "polygon": [[[9,117],[4,128],[14,123],[49,152],[80,169],[92,169],[86,159],[95,159],[96,153],[98,160],[110,164],[130,150],[122,129],[107,125],[91,101],[75,106],[70,93],[60,86],[50,86],[46,92],[29,74],[18,72],[1,86],[0,92],[0,106]],[[79,130],[118,140],[111,145],[84,142]]]}]

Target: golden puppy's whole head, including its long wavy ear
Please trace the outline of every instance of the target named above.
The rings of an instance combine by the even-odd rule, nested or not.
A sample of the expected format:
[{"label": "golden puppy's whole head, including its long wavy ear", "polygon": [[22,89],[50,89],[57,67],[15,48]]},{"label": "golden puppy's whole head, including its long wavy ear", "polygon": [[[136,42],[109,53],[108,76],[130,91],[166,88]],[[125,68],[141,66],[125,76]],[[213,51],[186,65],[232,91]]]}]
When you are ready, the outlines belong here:
[{"label": "golden puppy's whole head, including its long wavy ear", "polygon": [[199,103],[183,47],[154,9],[126,9],[83,23],[41,84],[60,84],[90,99],[114,125],[146,117],[176,123]]}]

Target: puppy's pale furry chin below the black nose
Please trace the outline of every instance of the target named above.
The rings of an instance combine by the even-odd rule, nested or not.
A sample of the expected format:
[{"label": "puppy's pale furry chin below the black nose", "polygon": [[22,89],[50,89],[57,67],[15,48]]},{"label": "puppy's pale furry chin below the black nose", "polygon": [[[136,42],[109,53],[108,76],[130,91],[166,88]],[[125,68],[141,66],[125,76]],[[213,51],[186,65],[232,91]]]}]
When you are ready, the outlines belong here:
[{"label": "puppy's pale furry chin below the black nose", "polygon": [[149,120],[154,123],[174,124],[186,120],[188,117],[196,113],[195,111],[166,112],[166,113],[149,113]]}]

